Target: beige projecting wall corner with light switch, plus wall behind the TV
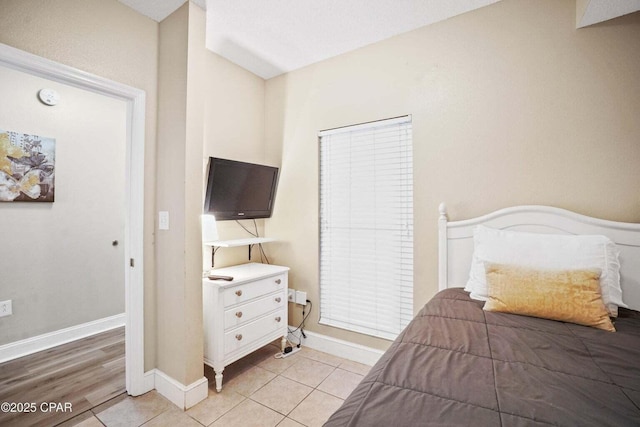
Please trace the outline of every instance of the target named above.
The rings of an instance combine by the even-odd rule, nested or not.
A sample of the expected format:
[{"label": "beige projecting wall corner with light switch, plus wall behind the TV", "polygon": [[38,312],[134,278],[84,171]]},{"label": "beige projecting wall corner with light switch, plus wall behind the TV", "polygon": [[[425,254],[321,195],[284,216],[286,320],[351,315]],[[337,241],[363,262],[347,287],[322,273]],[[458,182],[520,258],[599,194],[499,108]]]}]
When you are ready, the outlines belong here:
[{"label": "beige projecting wall corner with light switch, plus wall behind the TV", "polygon": [[[185,385],[203,376],[206,160],[264,158],[264,80],[206,50],[205,20],[189,3],[160,24],[157,200],[170,229],[158,230],[156,248],[157,367]],[[222,239],[246,237],[235,222],[219,229]],[[246,262],[240,249],[222,249],[216,267]],[[206,268],[211,252],[204,252]]]}]

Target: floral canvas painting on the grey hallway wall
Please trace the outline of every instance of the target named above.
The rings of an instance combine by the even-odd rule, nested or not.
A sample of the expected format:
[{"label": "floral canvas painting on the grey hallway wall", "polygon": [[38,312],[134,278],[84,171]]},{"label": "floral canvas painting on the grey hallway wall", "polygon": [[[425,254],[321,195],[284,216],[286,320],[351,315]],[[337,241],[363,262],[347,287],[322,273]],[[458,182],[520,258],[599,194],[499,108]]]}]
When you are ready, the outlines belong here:
[{"label": "floral canvas painting on the grey hallway wall", "polygon": [[0,129],[0,202],[53,202],[56,140]]}]

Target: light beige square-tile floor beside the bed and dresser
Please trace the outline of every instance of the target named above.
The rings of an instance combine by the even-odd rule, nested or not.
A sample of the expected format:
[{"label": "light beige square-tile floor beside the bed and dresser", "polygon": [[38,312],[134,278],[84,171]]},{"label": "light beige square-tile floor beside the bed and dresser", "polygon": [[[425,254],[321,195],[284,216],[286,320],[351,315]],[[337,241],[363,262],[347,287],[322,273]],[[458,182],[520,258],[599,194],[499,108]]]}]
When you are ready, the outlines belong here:
[{"label": "light beige square-tile floor beside the bed and dresser", "polygon": [[308,348],[284,359],[277,352],[270,344],[227,366],[220,393],[206,367],[209,396],[187,411],[151,391],[121,395],[63,426],[321,426],[370,369]]}]

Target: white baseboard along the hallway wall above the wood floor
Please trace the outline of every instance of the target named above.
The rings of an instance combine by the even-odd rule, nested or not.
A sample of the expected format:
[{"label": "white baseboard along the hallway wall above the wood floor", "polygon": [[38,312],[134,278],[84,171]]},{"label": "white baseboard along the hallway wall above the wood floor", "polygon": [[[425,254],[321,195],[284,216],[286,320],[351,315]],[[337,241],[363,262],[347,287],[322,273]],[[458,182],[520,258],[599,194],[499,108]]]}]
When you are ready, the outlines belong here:
[{"label": "white baseboard along the hallway wall above the wood floor", "polygon": [[124,326],[125,313],[0,346],[0,363]]}]

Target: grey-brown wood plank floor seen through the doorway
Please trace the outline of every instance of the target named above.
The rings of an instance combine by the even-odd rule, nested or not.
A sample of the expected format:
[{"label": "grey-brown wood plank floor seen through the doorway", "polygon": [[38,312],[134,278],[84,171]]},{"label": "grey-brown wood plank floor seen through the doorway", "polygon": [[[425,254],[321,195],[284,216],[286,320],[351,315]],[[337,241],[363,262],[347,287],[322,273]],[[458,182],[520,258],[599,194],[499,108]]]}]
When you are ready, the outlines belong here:
[{"label": "grey-brown wood plank floor seen through the doorway", "polygon": [[124,356],[122,327],[0,364],[0,426],[55,426],[124,393]]}]

